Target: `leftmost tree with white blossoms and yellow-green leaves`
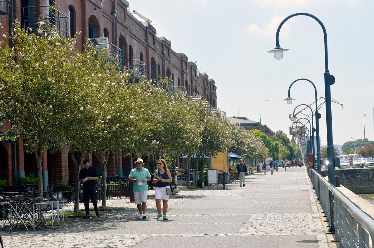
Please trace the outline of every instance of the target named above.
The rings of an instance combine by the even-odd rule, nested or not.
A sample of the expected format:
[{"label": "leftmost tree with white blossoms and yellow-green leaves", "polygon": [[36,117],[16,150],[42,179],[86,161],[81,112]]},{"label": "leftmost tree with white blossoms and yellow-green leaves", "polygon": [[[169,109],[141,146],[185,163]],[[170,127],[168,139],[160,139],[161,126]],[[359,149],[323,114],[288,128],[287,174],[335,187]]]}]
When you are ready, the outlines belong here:
[{"label": "leftmost tree with white blossoms and yellow-green leaves", "polygon": [[24,139],[25,151],[36,158],[38,198],[42,201],[43,154],[66,141],[58,127],[70,107],[75,68],[68,58],[76,50],[73,38],[61,39],[58,29],[48,25],[29,33],[16,21],[11,32],[14,48],[0,43],[0,111],[14,124],[9,132],[15,139]]}]

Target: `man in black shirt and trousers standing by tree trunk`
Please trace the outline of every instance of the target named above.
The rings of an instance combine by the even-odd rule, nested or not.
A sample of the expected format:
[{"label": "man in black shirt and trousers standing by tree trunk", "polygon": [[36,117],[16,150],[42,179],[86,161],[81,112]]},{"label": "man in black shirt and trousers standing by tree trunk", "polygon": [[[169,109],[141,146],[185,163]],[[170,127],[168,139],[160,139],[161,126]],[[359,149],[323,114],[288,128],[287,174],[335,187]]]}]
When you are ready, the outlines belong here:
[{"label": "man in black shirt and trousers standing by tree trunk", "polygon": [[96,199],[96,180],[99,179],[95,168],[90,167],[90,162],[88,160],[83,161],[83,166],[85,166],[79,173],[79,182],[83,183],[83,198],[85,199],[85,210],[86,216],[83,219],[88,219],[90,217],[89,201],[91,198],[93,208],[97,217],[100,217],[100,213],[97,209],[97,199]]}]

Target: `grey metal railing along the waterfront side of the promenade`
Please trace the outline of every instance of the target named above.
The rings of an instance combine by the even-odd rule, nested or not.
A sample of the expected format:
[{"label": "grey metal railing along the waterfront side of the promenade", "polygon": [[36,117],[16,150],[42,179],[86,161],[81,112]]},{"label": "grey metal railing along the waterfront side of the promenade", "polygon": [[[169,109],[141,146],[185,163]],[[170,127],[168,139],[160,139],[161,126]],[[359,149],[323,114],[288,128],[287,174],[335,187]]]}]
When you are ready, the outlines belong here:
[{"label": "grey metal railing along the waterfront side of the promenade", "polygon": [[315,170],[307,170],[335,241],[344,248],[373,247],[374,219]]}]

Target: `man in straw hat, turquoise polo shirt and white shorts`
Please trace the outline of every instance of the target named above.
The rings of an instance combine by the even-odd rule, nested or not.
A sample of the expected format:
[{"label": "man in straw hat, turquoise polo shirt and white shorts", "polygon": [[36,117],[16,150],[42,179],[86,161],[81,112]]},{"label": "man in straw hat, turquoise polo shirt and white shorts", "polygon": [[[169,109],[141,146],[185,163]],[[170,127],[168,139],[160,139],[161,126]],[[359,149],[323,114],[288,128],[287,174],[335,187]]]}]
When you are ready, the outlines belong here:
[{"label": "man in straw hat, turquoise polo shirt and white shorts", "polygon": [[143,167],[143,160],[138,158],[135,161],[136,168],[132,169],[129,175],[129,181],[134,182],[134,200],[137,204],[140,216],[138,219],[146,219],[145,215],[147,211],[147,197],[148,197],[148,185],[147,182],[151,180],[151,174],[149,170]]}]

